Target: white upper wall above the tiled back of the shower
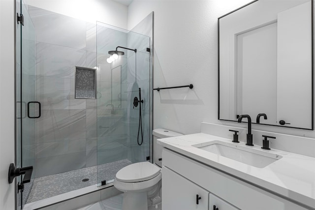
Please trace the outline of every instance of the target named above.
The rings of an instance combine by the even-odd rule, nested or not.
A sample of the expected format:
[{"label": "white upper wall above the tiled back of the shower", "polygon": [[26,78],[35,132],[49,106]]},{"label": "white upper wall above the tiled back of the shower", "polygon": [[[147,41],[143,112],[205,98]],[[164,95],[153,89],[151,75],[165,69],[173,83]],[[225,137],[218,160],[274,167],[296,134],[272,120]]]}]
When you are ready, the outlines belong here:
[{"label": "white upper wall above the tiled back of the shower", "polygon": [[29,5],[79,20],[127,28],[127,6],[113,0],[25,0]]}]

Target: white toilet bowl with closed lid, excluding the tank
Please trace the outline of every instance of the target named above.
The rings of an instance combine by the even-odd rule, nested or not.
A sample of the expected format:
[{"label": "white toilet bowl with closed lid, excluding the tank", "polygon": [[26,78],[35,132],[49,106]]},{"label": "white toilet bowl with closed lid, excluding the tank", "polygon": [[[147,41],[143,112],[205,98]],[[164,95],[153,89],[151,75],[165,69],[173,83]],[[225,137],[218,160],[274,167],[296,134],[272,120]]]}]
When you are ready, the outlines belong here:
[{"label": "white toilet bowl with closed lid, excluding the tank", "polygon": [[150,162],[128,165],[117,172],[114,186],[124,192],[123,210],[148,210],[148,199],[158,197],[161,169]]}]

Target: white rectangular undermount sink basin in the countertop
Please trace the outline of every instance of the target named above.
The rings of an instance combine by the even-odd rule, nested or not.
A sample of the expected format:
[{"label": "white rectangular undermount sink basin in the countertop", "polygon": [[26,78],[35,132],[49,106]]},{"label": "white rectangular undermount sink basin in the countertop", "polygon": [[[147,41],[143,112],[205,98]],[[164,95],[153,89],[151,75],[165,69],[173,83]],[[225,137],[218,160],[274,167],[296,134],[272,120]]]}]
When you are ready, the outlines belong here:
[{"label": "white rectangular undermount sink basin in the countertop", "polygon": [[264,168],[282,158],[282,156],[278,154],[254,150],[246,146],[235,145],[221,141],[212,141],[209,143],[193,145],[193,147],[206,150],[257,168]]}]

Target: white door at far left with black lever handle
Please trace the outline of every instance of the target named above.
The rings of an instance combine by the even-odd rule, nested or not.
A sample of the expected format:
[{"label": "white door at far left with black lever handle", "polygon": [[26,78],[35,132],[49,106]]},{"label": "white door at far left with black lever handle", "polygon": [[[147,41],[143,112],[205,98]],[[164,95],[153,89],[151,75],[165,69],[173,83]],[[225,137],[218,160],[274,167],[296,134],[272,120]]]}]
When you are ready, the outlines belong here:
[{"label": "white door at far left with black lever handle", "polygon": [[0,0],[0,210],[14,210],[14,0]]}]

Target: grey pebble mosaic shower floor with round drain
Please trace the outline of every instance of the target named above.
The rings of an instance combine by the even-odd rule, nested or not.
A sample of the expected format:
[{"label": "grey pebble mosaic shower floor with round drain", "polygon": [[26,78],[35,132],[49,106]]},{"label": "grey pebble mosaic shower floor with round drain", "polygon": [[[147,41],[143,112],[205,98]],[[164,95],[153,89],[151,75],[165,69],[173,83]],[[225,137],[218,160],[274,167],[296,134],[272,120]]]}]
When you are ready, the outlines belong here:
[{"label": "grey pebble mosaic shower floor with round drain", "polygon": [[[129,160],[124,159],[99,165],[98,167],[92,166],[36,178],[33,182],[27,204],[96,184],[97,174],[100,176],[98,180],[113,180],[120,169],[130,164]],[[97,171],[98,173],[96,173]],[[84,179],[89,180],[82,181]]]}]

